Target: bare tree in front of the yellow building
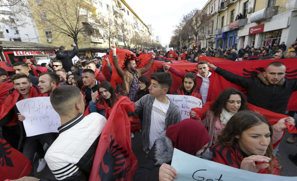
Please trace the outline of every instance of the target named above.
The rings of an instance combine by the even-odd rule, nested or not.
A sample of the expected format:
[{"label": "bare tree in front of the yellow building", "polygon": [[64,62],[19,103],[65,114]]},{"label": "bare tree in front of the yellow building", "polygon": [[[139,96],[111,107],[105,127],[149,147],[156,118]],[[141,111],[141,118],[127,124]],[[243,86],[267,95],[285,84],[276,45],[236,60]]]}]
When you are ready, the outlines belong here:
[{"label": "bare tree in front of the yellow building", "polygon": [[85,0],[30,0],[37,26],[50,30],[53,37],[71,37],[77,45],[86,31],[98,29],[100,20],[92,1]]}]

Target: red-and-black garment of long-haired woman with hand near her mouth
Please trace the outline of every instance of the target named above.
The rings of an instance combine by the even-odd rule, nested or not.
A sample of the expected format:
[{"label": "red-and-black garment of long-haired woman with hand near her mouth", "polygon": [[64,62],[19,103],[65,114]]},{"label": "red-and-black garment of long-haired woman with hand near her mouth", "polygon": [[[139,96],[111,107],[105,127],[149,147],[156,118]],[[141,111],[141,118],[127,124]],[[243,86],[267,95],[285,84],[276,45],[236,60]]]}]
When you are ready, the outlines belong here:
[{"label": "red-and-black garment of long-haired woman with hand near her mouth", "polygon": [[[229,147],[225,147],[217,143],[211,147],[211,151],[213,151],[212,161],[228,165],[230,167],[240,168],[243,160],[243,154],[237,143]],[[278,161],[275,158],[273,158],[273,162],[275,165],[278,165]],[[256,165],[261,163],[265,162],[256,162]],[[268,173],[268,169],[265,168],[258,171],[258,173],[279,175],[279,169],[277,167],[273,167],[273,173]]]}]

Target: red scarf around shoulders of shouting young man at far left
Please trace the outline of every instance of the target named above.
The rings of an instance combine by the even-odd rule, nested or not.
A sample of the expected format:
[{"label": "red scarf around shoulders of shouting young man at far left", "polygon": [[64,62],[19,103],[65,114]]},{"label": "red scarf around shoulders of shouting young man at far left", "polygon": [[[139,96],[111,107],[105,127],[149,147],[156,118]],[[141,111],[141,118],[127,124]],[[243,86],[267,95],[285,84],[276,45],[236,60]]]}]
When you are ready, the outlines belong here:
[{"label": "red scarf around shoulders of shouting young man at far left", "polygon": [[[3,119],[7,115],[7,113],[15,106],[15,103],[17,101],[19,101],[19,98],[23,98],[20,96],[21,96],[21,94],[16,89],[13,90],[13,92],[9,93],[9,95],[6,98],[6,100],[4,101],[4,103],[0,106],[0,120]],[[30,93],[29,93],[28,98],[43,97],[43,96],[48,96],[48,94],[41,93],[39,87],[33,85],[30,88]],[[18,119],[14,114],[13,119],[6,126],[13,126],[16,124],[18,124]]]}]

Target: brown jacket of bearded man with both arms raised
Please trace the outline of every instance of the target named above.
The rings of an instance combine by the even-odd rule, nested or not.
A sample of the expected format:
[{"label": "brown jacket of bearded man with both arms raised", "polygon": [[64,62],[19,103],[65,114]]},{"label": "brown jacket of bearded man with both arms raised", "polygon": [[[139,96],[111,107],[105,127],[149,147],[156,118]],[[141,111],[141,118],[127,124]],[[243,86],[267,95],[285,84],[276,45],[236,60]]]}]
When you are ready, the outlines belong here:
[{"label": "brown jacket of bearded man with both arms raised", "polygon": [[[153,59],[149,61],[149,63],[143,67],[143,68],[137,68],[135,70],[136,76],[139,78],[144,72],[148,71],[151,65],[153,64]],[[116,69],[118,76],[120,76],[123,80],[121,89],[120,89],[120,94],[122,96],[128,96],[131,84],[133,83],[134,80],[134,75],[133,73],[127,71],[127,70],[122,70],[120,66],[118,65],[118,58],[113,57],[113,63],[114,63],[114,68]]]}]

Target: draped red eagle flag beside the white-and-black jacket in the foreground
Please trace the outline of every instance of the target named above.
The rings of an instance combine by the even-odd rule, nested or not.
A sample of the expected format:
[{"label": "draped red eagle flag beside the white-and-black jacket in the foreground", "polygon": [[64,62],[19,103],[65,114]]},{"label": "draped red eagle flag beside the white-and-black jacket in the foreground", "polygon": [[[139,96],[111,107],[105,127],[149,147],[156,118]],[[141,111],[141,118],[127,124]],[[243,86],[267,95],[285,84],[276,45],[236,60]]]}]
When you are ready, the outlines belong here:
[{"label": "draped red eagle flag beside the white-and-black jacket in the foreground", "polygon": [[135,174],[137,158],[131,149],[127,111],[135,111],[135,103],[121,96],[102,130],[89,180],[125,181]]}]

